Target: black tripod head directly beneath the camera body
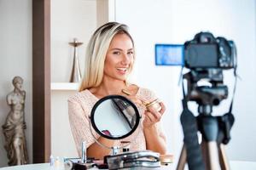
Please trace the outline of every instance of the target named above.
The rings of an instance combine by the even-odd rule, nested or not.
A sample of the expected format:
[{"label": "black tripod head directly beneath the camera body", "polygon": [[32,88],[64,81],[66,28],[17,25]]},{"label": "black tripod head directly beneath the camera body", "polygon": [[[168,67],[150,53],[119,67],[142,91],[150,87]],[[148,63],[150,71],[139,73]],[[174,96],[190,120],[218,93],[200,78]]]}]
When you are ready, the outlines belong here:
[{"label": "black tripod head directly beneath the camera body", "polygon": [[[191,70],[183,75],[187,81],[187,101],[198,104],[200,114],[210,115],[212,105],[219,105],[223,99],[228,98],[228,87],[223,84],[223,71],[221,69]],[[201,80],[207,81],[209,86],[199,86]]]}]

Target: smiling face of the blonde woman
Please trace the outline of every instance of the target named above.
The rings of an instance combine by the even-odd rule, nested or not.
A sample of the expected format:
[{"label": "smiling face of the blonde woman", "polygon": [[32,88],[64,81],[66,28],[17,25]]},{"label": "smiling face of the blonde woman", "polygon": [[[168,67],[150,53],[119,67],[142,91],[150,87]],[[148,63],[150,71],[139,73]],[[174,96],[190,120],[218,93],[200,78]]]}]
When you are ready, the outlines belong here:
[{"label": "smiling face of the blonde woman", "polygon": [[104,77],[124,81],[134,61],[134,48],[131,38],[117,34],[110,42],[104,64]]}]

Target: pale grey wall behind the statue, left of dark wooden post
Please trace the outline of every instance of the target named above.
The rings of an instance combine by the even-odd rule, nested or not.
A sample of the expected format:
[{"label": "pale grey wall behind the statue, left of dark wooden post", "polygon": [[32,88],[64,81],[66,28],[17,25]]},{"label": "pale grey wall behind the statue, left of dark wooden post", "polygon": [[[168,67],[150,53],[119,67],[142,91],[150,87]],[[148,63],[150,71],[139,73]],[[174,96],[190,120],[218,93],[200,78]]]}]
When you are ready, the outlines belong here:
[{"label": "pale grey wall behind the statue, left of dark wooden post", "polygon": [[7,166],[2,125],[9,113],[6,95],[12,79],[24,79],[25,121],[29,161],[32,162],[32,0],[0,0],[0,167]]}]

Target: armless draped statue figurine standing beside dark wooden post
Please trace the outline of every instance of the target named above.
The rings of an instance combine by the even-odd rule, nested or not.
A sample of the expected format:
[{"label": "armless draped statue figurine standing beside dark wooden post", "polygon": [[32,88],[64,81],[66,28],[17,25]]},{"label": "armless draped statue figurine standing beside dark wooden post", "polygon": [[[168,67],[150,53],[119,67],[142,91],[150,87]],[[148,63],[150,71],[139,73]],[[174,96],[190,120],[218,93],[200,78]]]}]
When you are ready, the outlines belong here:
[{"label": "armless draped statue figurine standing beside dark wooden post", "polygon": [[14,77],[14,91],[7,95],[7,104],[10,111],[6,117],[3,127],[5,137],[4,148],[9,158],[9,166],[22,165],[28,163],[24,120],[24,107],[26,92],[22,90],[23,79]]}]

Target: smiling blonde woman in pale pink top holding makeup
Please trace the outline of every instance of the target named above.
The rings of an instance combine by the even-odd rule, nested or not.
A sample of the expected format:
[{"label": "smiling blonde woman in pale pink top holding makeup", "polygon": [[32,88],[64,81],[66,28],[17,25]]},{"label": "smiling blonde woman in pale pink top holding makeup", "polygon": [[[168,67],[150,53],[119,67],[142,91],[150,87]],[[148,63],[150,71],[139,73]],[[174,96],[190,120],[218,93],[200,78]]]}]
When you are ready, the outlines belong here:
[{"label": "smiling blonde woman in pale pink top holding makeup", "polygon": [[143,116],[143,126],[137,127],[138,133],[132,133],[125,139],[110,140],[96,136],[97,140],[109,147],[120,146],[121,141],[131,141],[130,150],[153,150],[166,154],[166,137],[160,129],[160,119],[165,105],[160,102],[160,111],[146,111],[142,100],[156,99],[147,88],[140,88],[127,81],[135,60],[134,42],[127,26],[109,22],[99,27],[86,49],[84,78],[78,94],[68,99],[70,125],[79,155],[81,143],[86,142],[87,156],[102,159],[110,150],[96,144],[90,134],[90,111],[98,99],[111,94],[122,94],[122,89],[131,93],[125,96],[131,99]]}]

